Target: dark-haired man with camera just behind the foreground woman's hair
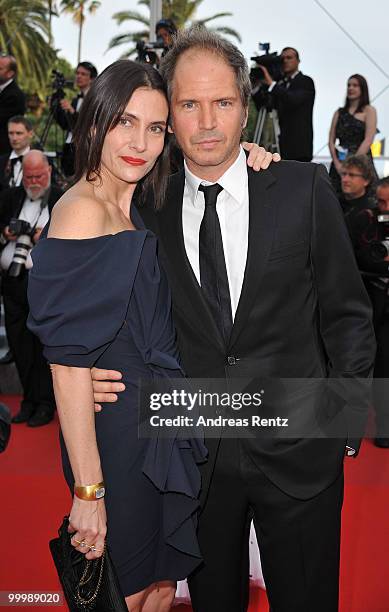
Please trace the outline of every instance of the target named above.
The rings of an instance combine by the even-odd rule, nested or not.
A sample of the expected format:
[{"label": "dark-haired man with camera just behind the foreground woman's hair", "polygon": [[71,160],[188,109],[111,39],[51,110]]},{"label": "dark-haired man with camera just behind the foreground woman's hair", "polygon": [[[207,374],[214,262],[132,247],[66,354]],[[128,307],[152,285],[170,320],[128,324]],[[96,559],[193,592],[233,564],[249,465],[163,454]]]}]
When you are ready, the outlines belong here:
[{"label": "dark-haired man with camera just behind the foreground woman's hair", "polygon": [[90,62],[80,62],[76,68],[75,86],[80,93],[71,102],[67,98],[61,99],[54,109],[54,118],[58,125],[66,131],[65,144],[62,151],[62,171],[65,176],[74,174],[74,147],[72,144],[72,131],[77,123],[78,114],[84,97],[89,91],[93,79],[97,77],[97,69]]}]

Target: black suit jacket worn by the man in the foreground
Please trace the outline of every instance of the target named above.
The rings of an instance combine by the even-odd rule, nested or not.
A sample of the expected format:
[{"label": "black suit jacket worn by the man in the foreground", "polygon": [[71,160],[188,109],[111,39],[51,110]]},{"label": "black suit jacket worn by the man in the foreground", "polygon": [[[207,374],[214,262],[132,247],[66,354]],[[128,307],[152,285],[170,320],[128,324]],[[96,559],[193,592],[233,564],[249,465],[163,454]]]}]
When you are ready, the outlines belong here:
[{"label": "black suit jacket worn by the man in the foreground", "polygon": [[[228,346],[220,336],[184,246],[184,173],[170,180],[167,202],[141,215],[160,238],[173,295],[184,369],[198,378],[366,377],[375,341],[371,308],[324,167],[280,162],[249,174],[249,246]],[[234,359],[228,359],[233,357]],[[328,407],[327,407],[328,408]],[[324,407],[324,410],[327,410]],[[355,406],[361,427],[366,402]],[[282,490],[309,498],[339,475],[345,439],[245,440],[258,467]],[[203,496],[217,457],[207,440]],[[348,442],[354,448],[358,440]]]}]

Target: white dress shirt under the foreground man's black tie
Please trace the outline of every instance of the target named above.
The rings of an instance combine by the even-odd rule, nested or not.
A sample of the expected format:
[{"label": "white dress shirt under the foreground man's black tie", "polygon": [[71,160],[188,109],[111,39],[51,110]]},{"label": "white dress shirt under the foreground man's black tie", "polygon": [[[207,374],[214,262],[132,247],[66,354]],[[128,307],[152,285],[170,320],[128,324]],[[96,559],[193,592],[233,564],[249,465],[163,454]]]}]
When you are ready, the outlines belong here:
[{"label": "white dress shirt under the foreground man's black tie", "polygon": [[[200,284],[199,232],[205,201],[199,185],[211,185],[195,176],[184,163],[185,188],[182,206],[182,226],[186,253]],[[216,211],[222,234],[227,277],[230,287],[232,317],[238,308],[246,268],[249,230],[249,192],[247,162],[243,149],[236,161],[217,181],[223,187]]]}]

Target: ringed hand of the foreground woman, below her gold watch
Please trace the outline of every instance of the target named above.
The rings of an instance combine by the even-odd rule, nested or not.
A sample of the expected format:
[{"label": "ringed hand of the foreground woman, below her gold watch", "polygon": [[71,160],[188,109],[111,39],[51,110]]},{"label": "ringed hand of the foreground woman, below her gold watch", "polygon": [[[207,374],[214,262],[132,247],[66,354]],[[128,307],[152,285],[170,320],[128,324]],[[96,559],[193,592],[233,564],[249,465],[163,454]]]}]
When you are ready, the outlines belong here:
[{"label": "ringed hand of the foreground woman, below her gold watch", "polygon": [[86,501],[75,495],[69,516],[69,533],[73,534],[72,546],[87,559],[101,557],[107,534],[104,498]]}]

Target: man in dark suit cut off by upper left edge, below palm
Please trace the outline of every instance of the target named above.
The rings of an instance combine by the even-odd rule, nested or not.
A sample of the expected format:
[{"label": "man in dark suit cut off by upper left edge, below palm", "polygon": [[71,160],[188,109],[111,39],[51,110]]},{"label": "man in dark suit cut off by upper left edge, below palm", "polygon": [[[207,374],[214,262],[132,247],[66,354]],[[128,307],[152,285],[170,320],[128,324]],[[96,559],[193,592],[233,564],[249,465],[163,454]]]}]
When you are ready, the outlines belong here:
[{"label": "man in dark suit cut off by upper left edge, below palm", "polygon": [[26,111],[24,93],[15,82],[16,74],[15,58],[12,55],[2,55],[0,57],[0,155],[11,151],[8,120],[13,115],[24,115]]}]

